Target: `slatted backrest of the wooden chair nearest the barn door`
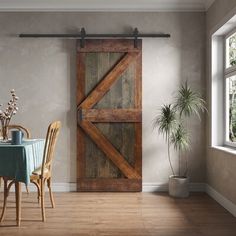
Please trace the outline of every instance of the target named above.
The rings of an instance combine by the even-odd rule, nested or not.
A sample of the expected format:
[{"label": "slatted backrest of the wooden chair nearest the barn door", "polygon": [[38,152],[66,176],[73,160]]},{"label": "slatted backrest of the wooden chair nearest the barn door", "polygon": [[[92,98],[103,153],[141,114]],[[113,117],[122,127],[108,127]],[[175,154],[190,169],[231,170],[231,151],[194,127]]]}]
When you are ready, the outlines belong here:
[{"label": "slatted backrest of the wooden chair nearest the barn door", "polygon": [[51,123],[48,127],[45,146],[44,146],[42,169],[41,169],[42,176],[44,175],[45,167],[49,171],[51,171],[51,164],[52,164],[54,150],[55,150],[56,141],[57,141],[60,128],[61,128],[60,121],[55,121]]}]

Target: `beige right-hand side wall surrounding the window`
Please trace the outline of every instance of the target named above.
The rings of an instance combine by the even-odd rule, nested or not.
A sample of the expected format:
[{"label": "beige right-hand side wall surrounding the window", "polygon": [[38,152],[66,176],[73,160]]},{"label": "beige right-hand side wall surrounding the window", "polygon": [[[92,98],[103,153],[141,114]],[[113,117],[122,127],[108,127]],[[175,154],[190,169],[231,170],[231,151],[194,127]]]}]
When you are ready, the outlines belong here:
[{"label": "beige right-hand side wall surrounding the window", "polygon": [[[207,75],[208,100],[210,104],[210,36],[229,18],[236,14],[235,0],[217,0],[207,12]],[[210,137],[210,116],[208,119],[208,137]],[[236,156],[210,148],[210,138],[207,148],[207,183],[223,196],[236,204]]]}]

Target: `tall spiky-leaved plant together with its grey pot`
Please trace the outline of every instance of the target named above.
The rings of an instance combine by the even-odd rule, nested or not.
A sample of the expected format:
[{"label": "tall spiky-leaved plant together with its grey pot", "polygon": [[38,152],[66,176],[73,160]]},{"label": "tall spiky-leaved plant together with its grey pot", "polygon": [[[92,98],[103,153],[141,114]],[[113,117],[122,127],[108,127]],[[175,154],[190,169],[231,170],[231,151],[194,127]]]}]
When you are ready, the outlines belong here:
[{"label": "tall spiky-leaved plant together with its grey pot", "polygon": [[[172,175],[169,177],[169,195],[172,197],[188,197],[188,157],[185,155],[182,167],[182,154],[190,149],[190,134],[186,127],[191,116],[200,118],[200,113],[206,111],[205,101],[201,95],[193,91],[186,82],[178,89],[175,100],[171,104],[164,104],[154,119],[154,128],[158,128],[167,142],[168,160]],[[178,173],[171,162],[171,147],[178,152]]]}]

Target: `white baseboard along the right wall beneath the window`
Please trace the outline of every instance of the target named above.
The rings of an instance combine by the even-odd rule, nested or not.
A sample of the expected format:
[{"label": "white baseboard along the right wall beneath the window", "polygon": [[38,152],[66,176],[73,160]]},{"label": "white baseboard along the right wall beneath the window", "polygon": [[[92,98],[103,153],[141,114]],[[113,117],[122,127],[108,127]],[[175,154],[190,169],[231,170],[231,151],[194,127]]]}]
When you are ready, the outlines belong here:
[{"label": "white baseboard along the right wall beneath the window", "polygon": [[225,198],[208,184],[206,184],[206,193],[236,217],[236,205],[233,202]]}]

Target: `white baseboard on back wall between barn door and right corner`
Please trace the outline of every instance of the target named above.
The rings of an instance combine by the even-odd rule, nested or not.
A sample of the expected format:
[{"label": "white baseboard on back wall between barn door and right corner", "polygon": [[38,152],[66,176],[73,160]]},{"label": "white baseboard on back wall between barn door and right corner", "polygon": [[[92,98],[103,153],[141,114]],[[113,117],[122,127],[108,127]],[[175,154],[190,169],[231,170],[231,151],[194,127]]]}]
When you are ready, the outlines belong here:
[{"label": "white baseboard on back wall between barn door and right corner", "polygon": [[[205,183],[190,183],[189,189],[191,192],[205,192]],[[143,192],[167,192],[168,185],[161,183],[143,183]]]}]

